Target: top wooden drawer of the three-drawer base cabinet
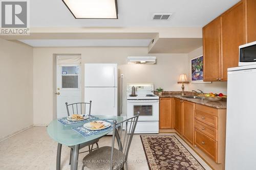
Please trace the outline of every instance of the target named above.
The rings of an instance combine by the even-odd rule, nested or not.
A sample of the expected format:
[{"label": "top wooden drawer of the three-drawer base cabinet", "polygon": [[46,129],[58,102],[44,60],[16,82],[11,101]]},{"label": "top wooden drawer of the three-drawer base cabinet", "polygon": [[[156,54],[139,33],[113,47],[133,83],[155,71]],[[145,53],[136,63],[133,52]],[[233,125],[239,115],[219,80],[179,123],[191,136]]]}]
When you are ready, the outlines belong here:
[{"label": "top wooden drawer of the three-drawer base cabinet", "polygon": [[201,111],[196,111],[195,118],[211,127],[214,127],[215,129],[218,128],[218,117],[212,116],[210,114],[206,114]]}]

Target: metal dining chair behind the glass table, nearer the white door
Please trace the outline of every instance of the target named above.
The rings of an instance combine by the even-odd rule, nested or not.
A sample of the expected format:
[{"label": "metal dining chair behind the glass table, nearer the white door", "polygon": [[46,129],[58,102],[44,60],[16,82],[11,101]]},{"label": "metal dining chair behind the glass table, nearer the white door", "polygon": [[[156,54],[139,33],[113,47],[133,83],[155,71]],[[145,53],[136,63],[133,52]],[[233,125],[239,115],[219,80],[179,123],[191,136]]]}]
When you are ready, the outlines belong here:
[{"label": "metal dining chair behind the glass table, nearer the white door", "polygon": [[[88,115],[91,115],[92,101],[90,101],[90,103],[72,103],[72,104],[68,104],[66,102],[65,104],[66,104],[68,116],[70,116],[72,114],[86,114],[87,111],[88,111]],[[84,148],[84,147],[88,147],[89,150],[88,151],[79,152],[79,154],[84,153],[84,152],[92,152],[93,150],[99,149],[98,141],[99,141],[99,139],[93,140],[89,144],[88,144],[88,142],[87,142],[87,144],[81,143],[79,145],[79,150]],[[93,145],[94,144],[96,144],[97,147],[93,149]],[[91,145],[92,145],[92,147],[91,147]],[[69,164],[71,164],[72,153],[73,153],[73,149],[71,148],[70,149]]]}]

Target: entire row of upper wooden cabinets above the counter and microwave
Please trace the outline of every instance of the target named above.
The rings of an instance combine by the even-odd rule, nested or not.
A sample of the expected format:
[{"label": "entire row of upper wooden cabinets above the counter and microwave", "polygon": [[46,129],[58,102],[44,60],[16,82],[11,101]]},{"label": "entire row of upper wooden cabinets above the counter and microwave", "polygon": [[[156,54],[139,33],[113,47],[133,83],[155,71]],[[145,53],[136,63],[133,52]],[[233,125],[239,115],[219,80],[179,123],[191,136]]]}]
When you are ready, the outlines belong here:
[{"label": "entire row of upper wooden cabinets above the counter and microwave", "polygon": [[239,45],[256,41],[256,1],[243,0],[203,28],[204,81],[227,81]]}]

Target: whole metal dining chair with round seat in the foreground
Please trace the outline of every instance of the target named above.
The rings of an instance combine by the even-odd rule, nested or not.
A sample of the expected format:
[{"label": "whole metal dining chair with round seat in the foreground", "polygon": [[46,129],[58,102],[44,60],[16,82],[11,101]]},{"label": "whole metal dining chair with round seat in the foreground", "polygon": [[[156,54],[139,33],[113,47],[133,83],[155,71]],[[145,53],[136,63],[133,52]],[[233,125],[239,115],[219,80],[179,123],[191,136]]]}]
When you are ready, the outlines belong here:
[{"label": "whole metal dining chair with round seat in the foreground", "polygon": [[[124,165],[125,169],[128,169],[127,157],[138,117],[139,113],[137,116],[126,119],[119,124],[114,120],[112,147],[100,147],[86,155],[82,160],[82,170],[84,167],[91,170],[117,170],[123,169]],[[115,139],[117,139],[118,149],[115,148]]]}]

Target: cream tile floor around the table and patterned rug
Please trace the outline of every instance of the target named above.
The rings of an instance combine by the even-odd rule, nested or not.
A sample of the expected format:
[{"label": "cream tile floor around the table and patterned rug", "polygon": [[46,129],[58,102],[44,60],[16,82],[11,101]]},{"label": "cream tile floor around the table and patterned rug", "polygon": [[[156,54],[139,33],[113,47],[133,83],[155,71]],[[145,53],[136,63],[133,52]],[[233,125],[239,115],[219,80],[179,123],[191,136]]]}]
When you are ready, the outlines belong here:
[{"label": "cream tile floor around the table and patterned rug", "polygon": [[[196,153],[191,150],[184,141],[182,141],[178,136],[177,138],[205,167],[205,169],[210,169],[209,166],[198,155],[196,155]],[[111,145],[111,136],[101,138],[99,145]],[[48,136],[47,128],[32,127],[0,142],[0,169],[54,170],[56,169],[56,151],[57,143]],[[62,146],[62,170],[70,169],[69,153],[70,148]],[[79,160],[82,160],[86,154],[87,153],[79,154]],[[140,135],[134,135],[128,158],[131,162],[129,163],[129,169],[148,169]],[[78,169],[81,169],[81,163],[78,163]]]}]

